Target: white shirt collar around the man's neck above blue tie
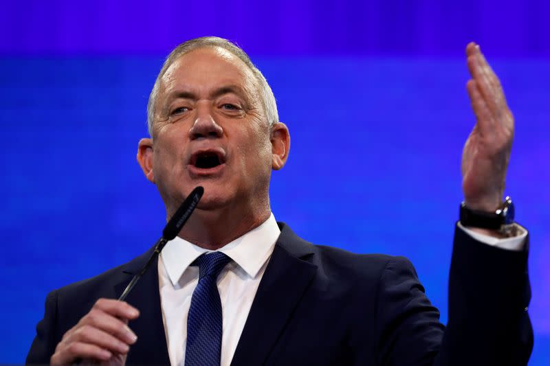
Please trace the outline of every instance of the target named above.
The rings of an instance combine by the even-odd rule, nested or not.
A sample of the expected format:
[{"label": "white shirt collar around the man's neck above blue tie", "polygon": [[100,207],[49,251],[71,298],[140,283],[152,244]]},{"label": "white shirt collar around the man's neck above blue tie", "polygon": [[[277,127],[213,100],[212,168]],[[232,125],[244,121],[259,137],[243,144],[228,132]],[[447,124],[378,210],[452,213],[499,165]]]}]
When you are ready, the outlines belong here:
[{"label": "white shirt collar around the man's neck above blue tie", "polygon": [[[279,234],[281,234],[281,230],[277,226],[275,217],[271,214],[270,218],[262,225],[225,244],[218,251],[228,255],[250,277],[256,277],[263,264],[273,253]],[[172,284],[176,286],[179,277],[184,274],[187,267],[199,255],[207,252],[210,251],[179,238],[179,236],[167,242],[160,255]]]}]

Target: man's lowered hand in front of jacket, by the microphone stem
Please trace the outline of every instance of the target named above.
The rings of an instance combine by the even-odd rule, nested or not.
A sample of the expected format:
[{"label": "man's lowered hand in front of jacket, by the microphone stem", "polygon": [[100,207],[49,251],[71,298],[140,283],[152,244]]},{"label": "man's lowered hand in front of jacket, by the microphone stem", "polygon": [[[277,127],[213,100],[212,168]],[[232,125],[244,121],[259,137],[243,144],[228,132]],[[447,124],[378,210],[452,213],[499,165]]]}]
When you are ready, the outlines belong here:
[{"label": "man's lowered hand in front of jacket, by the microphone stem", "polygon": [[137,309],[124,301],[99,299],[80,321],[63,335],[51,365],[68,365],[77,359],[102,361],[99,365],[124,365],[130,345],[137,337],[128,328],[129,320],[139,316]]}]

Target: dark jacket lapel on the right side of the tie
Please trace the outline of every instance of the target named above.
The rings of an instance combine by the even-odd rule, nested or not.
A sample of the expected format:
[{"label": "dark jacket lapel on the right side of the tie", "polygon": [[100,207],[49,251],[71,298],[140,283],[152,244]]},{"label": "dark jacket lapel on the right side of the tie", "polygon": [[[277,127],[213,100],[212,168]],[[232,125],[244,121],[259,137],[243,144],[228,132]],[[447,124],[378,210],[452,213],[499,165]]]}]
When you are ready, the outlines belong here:
[{"label": "dark jacket lapel on the right side of the tie", "polygon": [[265,362],[316,273],[317,266],[306,261],[312,249],[281,224],[281,236],[254,297],[232,366]]}]

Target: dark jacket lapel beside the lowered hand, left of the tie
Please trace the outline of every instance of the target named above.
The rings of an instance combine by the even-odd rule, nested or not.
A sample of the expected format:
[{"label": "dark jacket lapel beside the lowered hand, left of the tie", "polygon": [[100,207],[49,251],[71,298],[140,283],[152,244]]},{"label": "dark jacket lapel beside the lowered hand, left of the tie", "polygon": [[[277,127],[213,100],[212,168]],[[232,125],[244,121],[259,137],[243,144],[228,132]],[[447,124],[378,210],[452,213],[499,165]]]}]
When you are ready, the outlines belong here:
[{"label": "dark jacket lapel beside the lowered hand, left of the tie", "polygon": [[[124,267],[123,272],[127,278],[115,286],[117,298],[152,254],[153,248]],[[137,342],[131,347],[126,364],[170,365],[160,308],[158,260],[155,260],[140,278],[130,295],[126,297],[126,302],[140,310],[140,317],[129,323],[137,335]]]}]

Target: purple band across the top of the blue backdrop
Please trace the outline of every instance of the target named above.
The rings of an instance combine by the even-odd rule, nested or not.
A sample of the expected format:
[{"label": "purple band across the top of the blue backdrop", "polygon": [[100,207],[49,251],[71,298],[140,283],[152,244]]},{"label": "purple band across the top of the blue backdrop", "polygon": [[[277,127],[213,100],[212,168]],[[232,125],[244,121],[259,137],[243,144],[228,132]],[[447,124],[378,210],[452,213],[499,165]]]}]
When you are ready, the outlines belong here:
[{"label": "purple band across the top of the blue backdrop", "polygon": [[456,56],[475,39],[496,56],[550,56],[544,0],[9,1],[0,52],[164,55],[217,35],[252,55]]}]

